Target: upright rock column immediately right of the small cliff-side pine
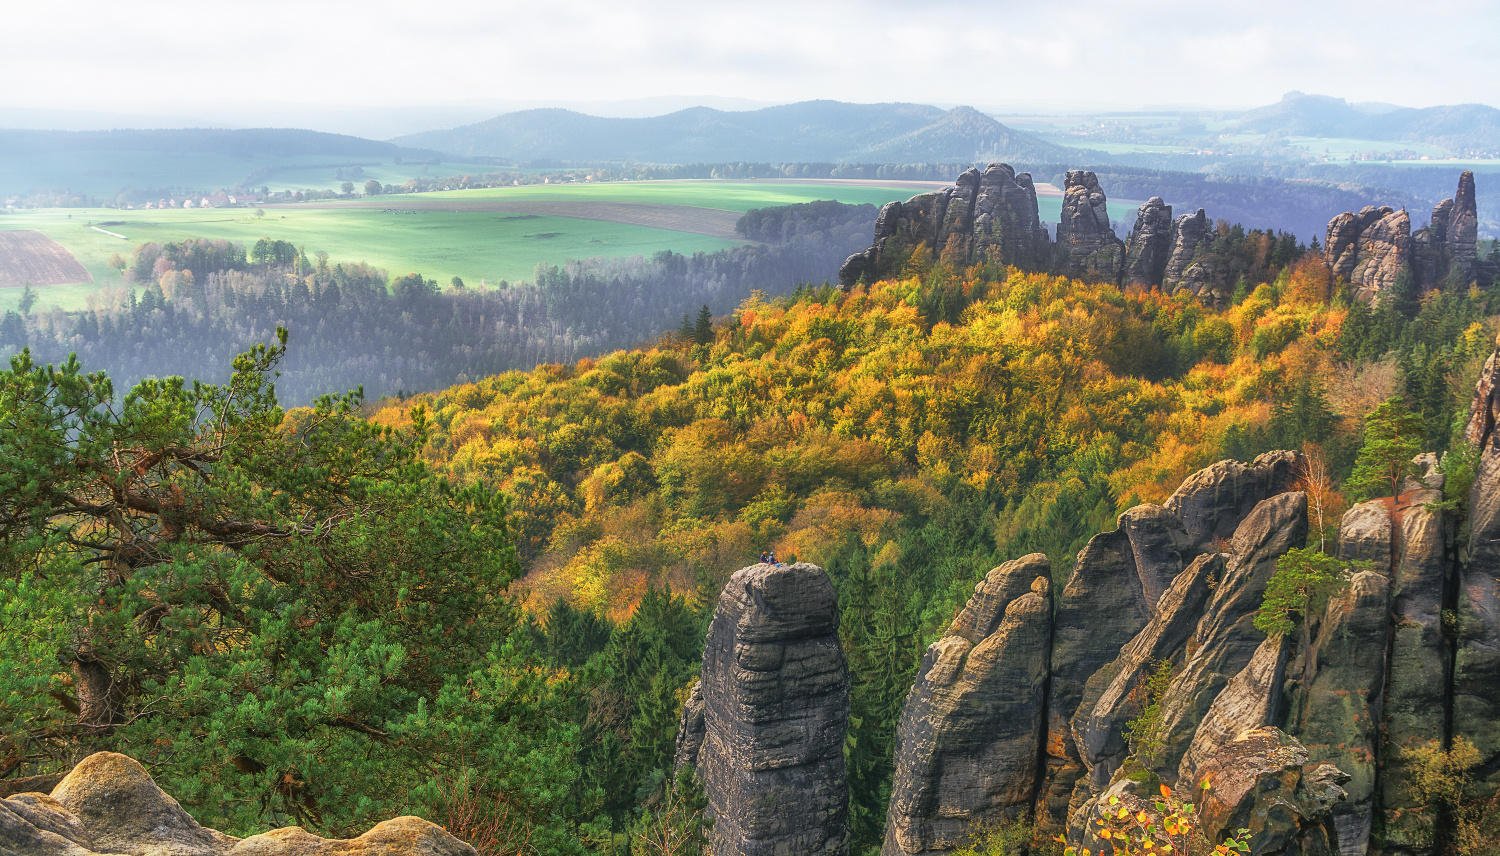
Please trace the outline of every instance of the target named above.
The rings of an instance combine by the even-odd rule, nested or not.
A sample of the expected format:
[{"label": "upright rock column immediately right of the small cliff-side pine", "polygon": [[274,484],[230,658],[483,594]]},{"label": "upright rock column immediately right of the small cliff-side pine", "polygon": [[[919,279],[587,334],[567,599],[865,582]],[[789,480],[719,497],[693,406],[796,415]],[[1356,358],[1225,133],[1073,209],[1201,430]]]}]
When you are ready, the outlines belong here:
[{"label": "upright rock column immediately right of the small cliff-side pine", "polygon": [[[1334,600],[1318,624],[1318,669],[1306,694],[1293,694],[1287,730],[1311,763],[1348,774],[1348,799],[1334,807],[1338,849],[1362,856],[1374,820],[1380,720],[1386,682],[1390,580],[1362,571]],[[1300,669],[1300,664],[1299,667]],[[1300,679],[1300,675],[1298,675]]]}]

